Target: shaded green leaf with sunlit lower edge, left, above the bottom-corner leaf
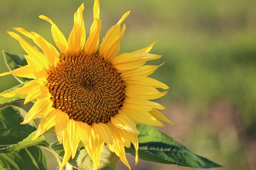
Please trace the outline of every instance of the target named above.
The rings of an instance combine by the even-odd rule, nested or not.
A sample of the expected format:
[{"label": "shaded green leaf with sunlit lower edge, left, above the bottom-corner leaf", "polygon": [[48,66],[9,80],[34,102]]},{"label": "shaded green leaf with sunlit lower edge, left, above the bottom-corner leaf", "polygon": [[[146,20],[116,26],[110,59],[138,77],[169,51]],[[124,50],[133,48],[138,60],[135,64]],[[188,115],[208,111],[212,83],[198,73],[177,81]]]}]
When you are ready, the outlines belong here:
[{"label": "shaded green leaf with sunlit lower edge, left, above the bottom-corner leaf", "polygon": [[36,125],[34,121],[25,125],[20,124],[26,114],[26,111],[17,106],[0,109],[0,153],[12,152],[32,145],[49,146],[43,136],[31,141],[36,133]]}]

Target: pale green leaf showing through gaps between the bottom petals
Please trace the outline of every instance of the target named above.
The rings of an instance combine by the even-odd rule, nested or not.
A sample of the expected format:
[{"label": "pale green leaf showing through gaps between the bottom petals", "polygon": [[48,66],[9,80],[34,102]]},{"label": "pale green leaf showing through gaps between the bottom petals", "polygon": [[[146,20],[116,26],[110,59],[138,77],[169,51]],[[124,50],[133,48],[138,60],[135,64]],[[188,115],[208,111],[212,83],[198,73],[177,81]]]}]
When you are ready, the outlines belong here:
[{"label": "pale green leaf showing through gaps between the bottom petals", "polygon": [[[93,162],[86,149],[82,147],[82,143],[78,146],[78,151],[76,152],[75,158],[68,161],[69,164],[78,168],[80,170],[92,170],[93,169]],[[60,145],[58,141],[52,143],[50,145],[50,149],[52,149],[60,158],[64,156],[64,149],[63,146]],[[112,153],[106,145],[100,154],[100,170],[114,170],[116,168],[116,164],[119,161],[119,157],[116,154]]]}]

